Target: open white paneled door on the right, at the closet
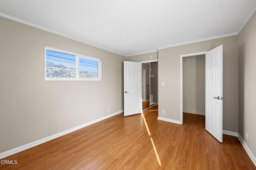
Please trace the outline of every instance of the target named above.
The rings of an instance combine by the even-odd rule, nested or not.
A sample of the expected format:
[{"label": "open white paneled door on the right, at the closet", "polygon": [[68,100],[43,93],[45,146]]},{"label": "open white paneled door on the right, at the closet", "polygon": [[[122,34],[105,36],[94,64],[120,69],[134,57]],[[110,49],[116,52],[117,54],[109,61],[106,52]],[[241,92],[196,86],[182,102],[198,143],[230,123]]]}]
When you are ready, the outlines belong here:
[{"label": "open white paneled door on the right, at the closet", "polygon": [[222,142],[223,45],[205,54],[205,129]]}]

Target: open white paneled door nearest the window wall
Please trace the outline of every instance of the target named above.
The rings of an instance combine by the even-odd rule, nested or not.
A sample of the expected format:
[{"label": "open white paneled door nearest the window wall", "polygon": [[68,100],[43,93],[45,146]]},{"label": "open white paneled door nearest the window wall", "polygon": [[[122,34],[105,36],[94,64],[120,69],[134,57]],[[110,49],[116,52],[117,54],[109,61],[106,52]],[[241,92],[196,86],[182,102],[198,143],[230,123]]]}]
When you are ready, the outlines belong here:
[{"label": "open white paneled door nearest the window wall", "polygon": [[124,61],[124,116],[142,113],[142,65]]}]

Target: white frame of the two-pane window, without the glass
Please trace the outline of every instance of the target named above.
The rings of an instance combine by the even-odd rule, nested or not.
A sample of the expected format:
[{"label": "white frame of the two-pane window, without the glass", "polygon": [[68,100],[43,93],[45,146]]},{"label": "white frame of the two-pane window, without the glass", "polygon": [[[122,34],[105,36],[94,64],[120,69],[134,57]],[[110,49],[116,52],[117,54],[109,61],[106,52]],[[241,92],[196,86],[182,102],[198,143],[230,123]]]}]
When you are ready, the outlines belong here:
[{"label": "white frame of the two-pane window, without the glass", "polygon": [[[59,53],[65,53],[68,55],[75,55],[76,56],[76,68],[75,68],[76,77],[75,78],[65,78],[65,77],[64,78],[49,78],[49,77],[46,77],[46,50],[55,51],[55,52],[59,52]],[[79,78],[79,58],[89,59],[89,60],[98,62],[98,78],[88,78],[88,77]],[[44,79],[47,81],[101,81],[101,59],[96,58],[96,57],[90,57],[88,55],[82,55],[82,54],[78,54],[78,53],[74,53],[74,52],[70,52],[70,51],[65,51],[62,49],[45,47],[44,48]]]}]

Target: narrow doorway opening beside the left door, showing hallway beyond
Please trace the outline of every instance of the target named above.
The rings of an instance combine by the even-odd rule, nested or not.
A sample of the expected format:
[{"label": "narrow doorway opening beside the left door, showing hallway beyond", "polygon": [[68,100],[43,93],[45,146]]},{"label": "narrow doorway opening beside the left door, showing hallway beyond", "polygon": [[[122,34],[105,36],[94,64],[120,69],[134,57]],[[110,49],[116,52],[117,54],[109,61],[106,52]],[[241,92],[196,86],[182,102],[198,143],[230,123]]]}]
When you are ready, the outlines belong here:
[{"label": "narrow doorway opening beside the left door, showing hallway beyond", "polygon": [[142,111],[158,104],[158,60],[142,63]]}]

